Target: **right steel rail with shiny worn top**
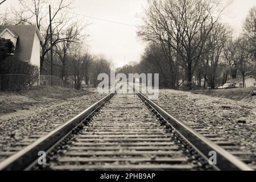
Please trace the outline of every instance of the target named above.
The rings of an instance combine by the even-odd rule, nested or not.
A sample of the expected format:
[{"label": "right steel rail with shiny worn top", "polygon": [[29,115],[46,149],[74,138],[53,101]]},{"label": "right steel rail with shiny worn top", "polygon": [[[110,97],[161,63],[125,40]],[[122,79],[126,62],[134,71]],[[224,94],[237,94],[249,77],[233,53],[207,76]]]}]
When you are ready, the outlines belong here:
[{"label": "right steel rail with shiny worn top", "polygon": [[203,135],[199,134],[196,130],[192,129],[184,122],[176,119],[166,110],[162,109],[155,102],[151,101],[148,97],[144,96],[141,92],[135,90],[138,96],[146,101],[152,108],[154,108],[170,125],[186,140],[199,154],[205,159],[209,160],[209,152],[215,151],[217,154],[217,164],[213,165],[214,168],[221,171],[253,171],[245,163],[238,160],[235,156],[213,143]]}]

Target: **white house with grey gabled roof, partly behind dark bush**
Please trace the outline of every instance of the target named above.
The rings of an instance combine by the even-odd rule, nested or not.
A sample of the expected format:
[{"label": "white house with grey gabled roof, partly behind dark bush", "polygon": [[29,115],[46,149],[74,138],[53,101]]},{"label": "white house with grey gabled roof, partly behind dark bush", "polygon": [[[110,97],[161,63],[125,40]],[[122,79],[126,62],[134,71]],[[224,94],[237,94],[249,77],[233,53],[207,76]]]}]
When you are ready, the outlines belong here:
[{"label": "white house with grey gabled roof, partly behind dark bush", "polygon": [[26,61],[40,68],[40,41],[35,25],[0,26],[0,37],[9,39],[15,46],[13,59]]}]

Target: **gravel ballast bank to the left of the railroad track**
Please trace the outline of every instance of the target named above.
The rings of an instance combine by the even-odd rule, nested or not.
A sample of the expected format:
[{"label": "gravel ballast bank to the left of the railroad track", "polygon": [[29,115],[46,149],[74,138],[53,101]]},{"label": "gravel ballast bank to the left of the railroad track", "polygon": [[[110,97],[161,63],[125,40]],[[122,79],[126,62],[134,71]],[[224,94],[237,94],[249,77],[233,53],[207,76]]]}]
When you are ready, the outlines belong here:
[{"label": "gravel ballast bank to the left of the railroad track", "polygon": [[33,106],[29,110],[18,110],[15,113],[1,115],[0,162],[7,157],[4,152],[7,151],[6,148],[17,145],[24,147],[34,142],[104,96],[90,92],[84,96],[68,100],[52,100]]}]

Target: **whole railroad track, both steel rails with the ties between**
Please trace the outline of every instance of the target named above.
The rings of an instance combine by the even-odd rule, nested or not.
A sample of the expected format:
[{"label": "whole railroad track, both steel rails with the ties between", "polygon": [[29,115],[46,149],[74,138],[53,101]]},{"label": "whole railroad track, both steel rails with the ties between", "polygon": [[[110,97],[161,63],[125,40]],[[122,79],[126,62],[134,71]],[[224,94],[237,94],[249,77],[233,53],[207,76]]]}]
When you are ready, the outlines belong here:
[{"label": "whole railroad track, both steel rails with the ties between", "polygon": [[[47,164],[38,164],[38,152]],[[208,162],[217,152],[217,164]],[[1,170],[250,170],[141,93],[90,106],[0,164]]]}]

